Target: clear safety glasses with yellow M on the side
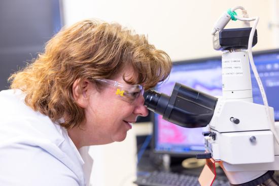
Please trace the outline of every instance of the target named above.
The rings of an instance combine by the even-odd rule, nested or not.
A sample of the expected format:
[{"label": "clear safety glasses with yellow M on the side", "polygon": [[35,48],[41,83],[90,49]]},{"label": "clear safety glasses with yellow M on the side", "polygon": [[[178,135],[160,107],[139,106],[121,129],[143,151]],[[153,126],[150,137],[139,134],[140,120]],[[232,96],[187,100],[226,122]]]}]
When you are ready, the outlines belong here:
[{"label": "clear safety glasses with yellow M on the side", "polygon": [[140,84],[123,85],[110,79],[96,79],[96,81],[115,87],[115,95],[129,103],[133,103],[138,97],[144,94],[144,87]]}]

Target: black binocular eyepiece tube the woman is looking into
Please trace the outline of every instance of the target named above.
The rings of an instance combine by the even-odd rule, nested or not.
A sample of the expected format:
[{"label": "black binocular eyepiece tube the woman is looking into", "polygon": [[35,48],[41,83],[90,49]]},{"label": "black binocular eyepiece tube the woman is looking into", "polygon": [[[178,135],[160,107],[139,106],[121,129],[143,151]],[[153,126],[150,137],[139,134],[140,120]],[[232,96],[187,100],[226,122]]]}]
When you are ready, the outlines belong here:
[{"label": "black binocular eyepiece tube the woman is looking into", "polygon": [[176,83],[171,96],[155,90],[145,94],[145,106],[163,119],[186,128],[205,127],[210,123],[217,98]]}]

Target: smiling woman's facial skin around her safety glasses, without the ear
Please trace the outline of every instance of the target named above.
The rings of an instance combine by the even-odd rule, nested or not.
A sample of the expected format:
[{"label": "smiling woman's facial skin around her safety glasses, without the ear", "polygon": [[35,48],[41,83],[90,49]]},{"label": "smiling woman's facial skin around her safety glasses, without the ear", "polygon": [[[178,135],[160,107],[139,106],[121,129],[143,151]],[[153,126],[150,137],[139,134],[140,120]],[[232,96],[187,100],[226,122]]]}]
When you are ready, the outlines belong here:
[{"label": "smiling woman's facial skin around her safety glasses, without the ear", "polygon": [[[124,73],[126,79],[133,76],[132,68],[124,68],[119,76],[112,80],[126,85],[127,83],[123,80]],[[143,96],[129,103],[119,98],[113,86],[106,86],[99,91],[94,88],[94,85],[92,86],[87,91],[89,103],[84,108],[86,117],[84,127],[90,134],[87,140],[90,144],[123,141],[127,131],[132,128],[129,123],[135,122],[138,115],[148,115]]]}]

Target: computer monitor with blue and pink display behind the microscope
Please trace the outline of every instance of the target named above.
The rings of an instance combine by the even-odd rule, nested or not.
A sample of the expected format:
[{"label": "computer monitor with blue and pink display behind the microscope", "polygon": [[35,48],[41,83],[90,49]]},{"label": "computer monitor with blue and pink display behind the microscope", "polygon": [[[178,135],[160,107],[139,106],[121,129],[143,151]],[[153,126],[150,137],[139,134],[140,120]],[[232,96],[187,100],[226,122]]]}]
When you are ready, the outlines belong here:
[{"label": "computer monitor with blue and pink display behind the microscope", "polygon": [[[279,120],[279,49],[254,52],[254,61],[261,77],[268,103],[274,108],[275,120]],[[222,96],[221,55],[211,58],[178,61],[173,63],[169,78],[158,85],[156,90],[171,94],[176,82],[206,92]],[[256,79],[251,70],[254,103],[263,104]],[[174,125],[154,115],[154,151],[173,155],[194,156],[204,151],[203,131],[208,128],[187,129]]]}]

